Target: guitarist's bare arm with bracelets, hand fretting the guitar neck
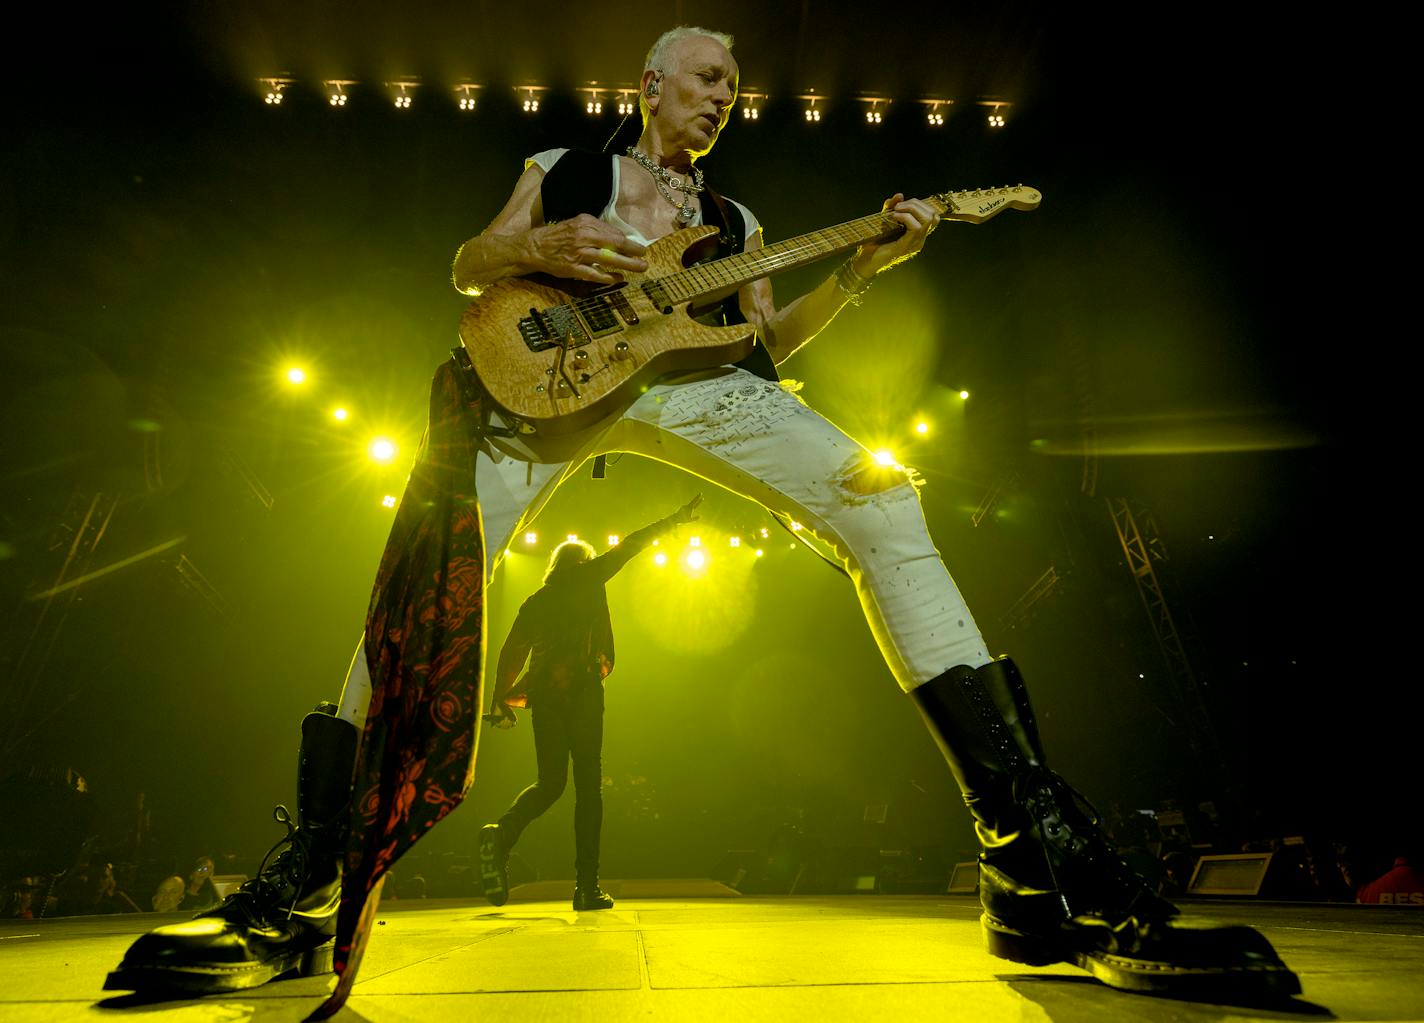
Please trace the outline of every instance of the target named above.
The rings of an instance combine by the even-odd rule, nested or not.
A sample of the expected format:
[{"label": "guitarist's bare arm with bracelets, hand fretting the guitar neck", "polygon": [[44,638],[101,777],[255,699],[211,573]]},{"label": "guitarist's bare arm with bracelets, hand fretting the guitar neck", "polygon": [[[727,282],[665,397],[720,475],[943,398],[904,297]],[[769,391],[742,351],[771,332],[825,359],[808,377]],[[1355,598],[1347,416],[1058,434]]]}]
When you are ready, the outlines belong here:
[{"label": "guitarist's bare arm with bracelets, hand fretting the guitar neck", "polygon": [[[904,234],[880,245],[866,244],[852,258],[852,269],[866,281],[880,271],[903,262],[924,248],[930,232],[940,224],[940,215],[920,199],[906,199],[896,194],[886,199],[884,208],[904,224]],[[746,251],[762,246],[758,232],[746,239]],[[778,309],[772,298],[772,282],[768,278],[745,285],[738,295],[742,315],[756,326],[766,350],[776,362],[785,360],[797,348],[820,333],[850,296],[836,282],[832,274],[812,291]]]}]

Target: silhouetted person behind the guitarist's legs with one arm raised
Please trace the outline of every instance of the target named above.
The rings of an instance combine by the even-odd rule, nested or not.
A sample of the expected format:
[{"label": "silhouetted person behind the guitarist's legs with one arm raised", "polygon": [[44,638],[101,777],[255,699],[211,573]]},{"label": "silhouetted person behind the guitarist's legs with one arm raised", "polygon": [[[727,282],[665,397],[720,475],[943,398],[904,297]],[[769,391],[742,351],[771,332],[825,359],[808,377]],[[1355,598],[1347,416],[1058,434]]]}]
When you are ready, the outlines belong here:
[{"label": "silhouetted person behind the guitarist's legs with one arm raised", "polygon": [[488,720],[508,728],[514,724],[514,707],[530,708],[538,779],[520,792],[498,824],[480,832],[480,875],[484,895],[496,906],[503,906],[510,895],[506,869],[510,851],[524,829],[564,794],[571,759],[574,909],[614,905],[598,886],[604,680],[614,670],[614,631],[604,586],[658,536],[696,519],[701,503],[699,494],[598,557],[582,540],[561,543],[550,554],[544,586],[520,607],[500,648]]}]

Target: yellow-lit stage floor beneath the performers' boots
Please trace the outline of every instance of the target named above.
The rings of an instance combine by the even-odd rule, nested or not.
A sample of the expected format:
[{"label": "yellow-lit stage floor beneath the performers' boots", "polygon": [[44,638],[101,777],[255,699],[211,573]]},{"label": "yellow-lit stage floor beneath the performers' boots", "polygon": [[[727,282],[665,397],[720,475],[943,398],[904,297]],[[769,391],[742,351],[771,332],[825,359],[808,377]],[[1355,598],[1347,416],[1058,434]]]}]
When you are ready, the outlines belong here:
[{"label": "yellow-lit stage floor beneath the performers' boots", "polygon": [[[1260,928],[1304,993],[1269,1007],[1124,995],[983,950],[971,896],[739,896],[715,882],[571,883],[382,906],[347,1020],[1424,1020],[1424,910],[1186,903]],[[565,890],[567,889],[567,890]],[[675,898],[652,898],[676,892]],[[132,938],[182,915],[0,922],[0,1019],[300,1020],[330,976],[175,1002],[104,992]]]}]

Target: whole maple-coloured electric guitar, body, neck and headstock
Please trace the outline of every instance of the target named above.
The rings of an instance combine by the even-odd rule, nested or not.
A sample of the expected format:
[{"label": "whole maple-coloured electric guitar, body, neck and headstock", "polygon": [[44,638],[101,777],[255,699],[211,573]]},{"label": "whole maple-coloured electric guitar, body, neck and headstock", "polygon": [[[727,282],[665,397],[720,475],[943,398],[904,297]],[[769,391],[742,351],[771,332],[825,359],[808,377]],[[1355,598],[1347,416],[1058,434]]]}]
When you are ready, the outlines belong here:
[{"label": "whole maple-coloured electric guitar, body, neck and headstock", "polygon": [[[1034,209],[1041,198],[1011,185],[940,192],[926,202],[943,219],[983,224],[1004,209]],[[622,284],[545,274],[496,281],[460,318],[460,342],[511,426],[567,436],[628,407],[664,373],[749,355],[756,338],[749,323],[693,319],[742,285],[903,231],[894,217],[876,212],[709,262],[698,259],[716,251],[715,227],[674,231],[648,246],[648,272],[627,274]]]}]

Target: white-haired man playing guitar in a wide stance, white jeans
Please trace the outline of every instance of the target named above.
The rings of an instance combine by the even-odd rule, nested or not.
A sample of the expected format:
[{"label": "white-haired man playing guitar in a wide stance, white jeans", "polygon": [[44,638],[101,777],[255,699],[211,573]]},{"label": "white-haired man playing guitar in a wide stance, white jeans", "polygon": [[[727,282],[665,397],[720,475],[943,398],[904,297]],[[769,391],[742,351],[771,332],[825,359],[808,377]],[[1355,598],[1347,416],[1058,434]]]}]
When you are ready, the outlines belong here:
[{"label": "white-haired man playing guitar in a wide stance, white jeans", "polygon": [[[659,37],[641,76],[637,145],[609,157],[531,157],[500,214],[457,252],[456,288],[477,295],[494,281],[531,272],[614,284],[646,269],[648,244],[696,224],[723,227],[723,249],[759,248],[755,217],[706,187],[696,164],[726,128],[736,100],[731,47],[729,36],[685,26]],[[847,302],[859,303],[876,275],[916,255],[938,224],[927,204],[903,195],[891,197],[886,209],[903,234],[862,245],[810,292],[778,306],[763,279],[723,303],[723,322],[745,319],[759,336],[740,365],[651,386],[619,417],[592,430],[572,457],[541,453],[517,437],[491,437],[476,462],[490,567],[558,483],[605,452],[678,464],[795,517],[846,564],[891,674],[960,782],[983,846],[980,898],[991,953],[1031,965],[1074,963],[1116,987],[1178,997],[1297,992],[1299,980],[1262,935],[1200,920],[1179,925],[1176,908],[1122,863],[1085,801],[1045,767],[1022,678],[1011,660],[990,657],[926,530],[913,474],[877,463],[776,382],[775,363],[816,336]],[[433,417],[431,430],[436,426]],[[380,580],[377,590],[384,591]],[[478,587],[468,591],[468,601],[478,598]],[[431,608],[430,620],[450,611]],[[350,734],[366,725],[367,707],[389,708],[372,695],[367,664],[363,648],[335,717],[309,715],[303,722],[299,802],[310,786],[313,809],[303,808],[292,836],[302,855],[278,859],[272,876],[263,875],[234,905],[141,938],[108,987],[231,990],[288,969],[322,969],[320,953],[335,930],[332,893],[342,883],[335,861],[345,845],[336,822],[350,794],[337,781],[349,777]],[[473,655],[468,673],[478,673]],[[426,789],[427,798],[447,791]],[[397,809],[410,806],[400,802]],[[350,853],[347,862],[355,862]],[[339,992],[349,990],[350,976]]]}]

